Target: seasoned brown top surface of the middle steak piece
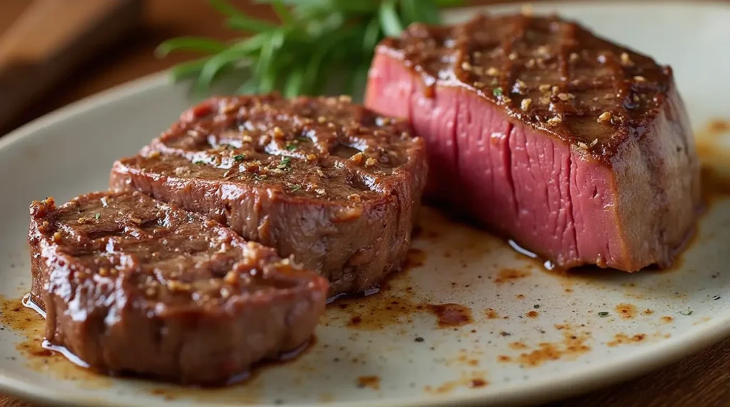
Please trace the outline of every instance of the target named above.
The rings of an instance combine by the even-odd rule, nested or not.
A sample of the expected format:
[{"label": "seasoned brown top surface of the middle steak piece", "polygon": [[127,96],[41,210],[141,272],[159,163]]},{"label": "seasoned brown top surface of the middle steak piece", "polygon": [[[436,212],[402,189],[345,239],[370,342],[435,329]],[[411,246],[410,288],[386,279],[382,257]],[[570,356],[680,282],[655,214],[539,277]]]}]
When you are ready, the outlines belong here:
[{"label": "seasoned brown top surface of the middle steak piece", "polygon": [[212,98],[141,154],[147,166],[182,177],[352,203],[388,194],[391,180],[420,165],[423,143],[408,131],[345,97]]}]

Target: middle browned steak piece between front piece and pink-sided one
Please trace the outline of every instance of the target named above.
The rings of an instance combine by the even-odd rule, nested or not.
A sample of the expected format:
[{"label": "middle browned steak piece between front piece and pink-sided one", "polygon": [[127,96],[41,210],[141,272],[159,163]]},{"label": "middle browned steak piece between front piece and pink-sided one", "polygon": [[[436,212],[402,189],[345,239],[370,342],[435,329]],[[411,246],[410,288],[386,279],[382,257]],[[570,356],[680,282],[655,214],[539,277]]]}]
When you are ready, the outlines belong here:
[{"label": "middle browned steak piece between front piece and pink-sided one", "polygon": [[115,162],[110,188],[293,255],[328,278],[330,295],[361,292],[407,256],[427,171],[408,130],[345,98],[212,98]]}]

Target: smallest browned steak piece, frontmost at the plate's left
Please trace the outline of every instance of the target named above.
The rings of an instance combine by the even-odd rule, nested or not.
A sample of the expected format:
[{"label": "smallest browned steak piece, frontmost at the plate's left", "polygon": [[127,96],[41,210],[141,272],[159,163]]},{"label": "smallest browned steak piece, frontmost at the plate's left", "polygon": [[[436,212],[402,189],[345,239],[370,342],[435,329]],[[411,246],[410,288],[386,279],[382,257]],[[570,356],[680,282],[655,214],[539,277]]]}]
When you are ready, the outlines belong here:
[{"label": "smallest browned steak piece, frontmost at the plate's left", "polygon": [[139,192],[33,202],[28,242],[47,341],[104,372],[223,384],[325,309],[323,277]]}]

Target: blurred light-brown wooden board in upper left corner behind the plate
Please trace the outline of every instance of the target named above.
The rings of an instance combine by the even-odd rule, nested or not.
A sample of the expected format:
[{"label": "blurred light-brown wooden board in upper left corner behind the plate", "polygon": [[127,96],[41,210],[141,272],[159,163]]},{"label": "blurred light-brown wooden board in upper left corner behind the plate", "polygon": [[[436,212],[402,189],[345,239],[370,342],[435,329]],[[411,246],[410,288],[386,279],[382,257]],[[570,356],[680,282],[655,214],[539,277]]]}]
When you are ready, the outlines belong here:
[{"label": "blurred light-brown wooden board in upper left corner behind the plate", "polygon": [[0,134],[81,63],[141,23],[142,0],[32,1],[0,36]]}]

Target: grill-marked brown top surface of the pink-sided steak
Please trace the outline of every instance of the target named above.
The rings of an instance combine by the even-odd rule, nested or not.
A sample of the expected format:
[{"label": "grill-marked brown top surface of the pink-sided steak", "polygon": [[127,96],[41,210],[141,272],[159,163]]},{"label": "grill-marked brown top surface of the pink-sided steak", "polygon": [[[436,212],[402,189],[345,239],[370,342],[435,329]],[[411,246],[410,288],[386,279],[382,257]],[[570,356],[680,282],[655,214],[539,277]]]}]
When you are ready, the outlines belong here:
[{"label": "grill-marked brown top surface of the pink-sided steak", "polygon": [[672,71],[558,17],[481,15],[447,27],[414,24],[379,52],[436,84],[466,87],[596,157],[641,136],[663,106]]}]

